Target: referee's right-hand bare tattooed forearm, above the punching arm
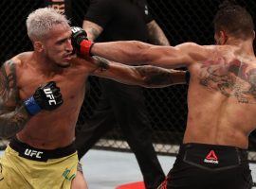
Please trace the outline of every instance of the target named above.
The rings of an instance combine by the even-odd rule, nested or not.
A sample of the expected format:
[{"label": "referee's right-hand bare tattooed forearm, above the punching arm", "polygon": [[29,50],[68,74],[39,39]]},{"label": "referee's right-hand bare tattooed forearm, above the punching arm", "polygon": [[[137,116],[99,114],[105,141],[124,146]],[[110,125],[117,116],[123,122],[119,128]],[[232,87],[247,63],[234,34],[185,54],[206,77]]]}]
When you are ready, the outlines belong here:
[{"label": "referee's right-hand bare tattooed forearm, above the punching arm", "polygon": [[149,32],[150,43],[157,44],[157,45],[165,45],[165,46],[170,45],[163,30],[160,28],[160,26],[157,25],[155,20],[148,23],[147,27]]}]

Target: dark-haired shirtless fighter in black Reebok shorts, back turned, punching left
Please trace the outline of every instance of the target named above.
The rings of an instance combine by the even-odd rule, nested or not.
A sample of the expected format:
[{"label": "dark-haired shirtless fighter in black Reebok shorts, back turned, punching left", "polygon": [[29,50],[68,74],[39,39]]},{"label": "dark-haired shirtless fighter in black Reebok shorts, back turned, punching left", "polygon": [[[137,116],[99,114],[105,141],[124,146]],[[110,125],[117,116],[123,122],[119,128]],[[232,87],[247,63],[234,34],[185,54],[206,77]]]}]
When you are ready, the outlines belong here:
[{"label": "dark-haired shirtless fighter in black Reebok shorts, back turned, punching left", "polygon": [[183,144],[165,184],[159,188],[251,188],[247,146],[249,133],[256,129],[253,20],[246,9],[226,0],[215,15],[214,27],[216,45],[78,43],[78,49],[88,50],[81,52],[85,57],[90,53],[126,64],[165,68],[185,65],[190,70]]}]

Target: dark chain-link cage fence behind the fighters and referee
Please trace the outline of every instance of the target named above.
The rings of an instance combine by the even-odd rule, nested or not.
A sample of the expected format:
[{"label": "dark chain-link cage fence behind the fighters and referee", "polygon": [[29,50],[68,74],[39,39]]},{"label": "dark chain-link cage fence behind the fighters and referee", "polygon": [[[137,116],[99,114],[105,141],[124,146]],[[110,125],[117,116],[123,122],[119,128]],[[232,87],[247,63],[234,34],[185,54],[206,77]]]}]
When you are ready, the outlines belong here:
[{"label": "dark chain-link cage fence behind the fighters and referee", "polygon": [[[212,20],[221,2],[221,0],[148,0],[149,10],[172,45],[184,42],[214,43]],[[238,0],[238,2],[247,7],[255,19],[256,2],[253,0]],[[27,38],[25,21],[29,12],[46,5],[52,5],[61,11],[65,9],[72,25],[82,26],[89,0],[0,1],[0,8],[2,8],[0,12],[1,62],[23,51],[32,50]],[[97,77],[89,77],[87,85],[88,90],[82,105],[78,127],[82,127],[86,118],[93,115],[101,95],[101,86]],[[187,121],[187,89],[186,85],[144,89],[153,141],[158,153],[175,154],[178,145],[182,142]],[[249,160],[256,161],[254,132],[249,141]],[[2,142],[5,146],[6,142]],[[106,133],[96,146],[129,150],[119,127]]]}]

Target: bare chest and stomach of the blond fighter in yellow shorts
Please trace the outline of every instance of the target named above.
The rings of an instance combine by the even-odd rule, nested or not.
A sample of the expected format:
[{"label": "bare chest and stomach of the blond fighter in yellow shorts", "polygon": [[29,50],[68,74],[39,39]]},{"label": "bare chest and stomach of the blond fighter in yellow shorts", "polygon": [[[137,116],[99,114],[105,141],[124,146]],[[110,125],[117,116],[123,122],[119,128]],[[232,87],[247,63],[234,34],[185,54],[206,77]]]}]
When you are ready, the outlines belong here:
[{"label": "bare chest and stomach of the blond fighter in yellow shorts", "polygon": [[60,72],[43,73],[35,68],[32,53],[18,56],[16,66],[17,85],[21,100],[34,94],[35,90],[48,81],[55,81],[60,87],[64,104],[55,111],[42,111],[32,116],[17,138],[30,146],[54,149],[68,146],[74,140],[74,132],[85,94],[85,80],[90,66],[77,62]]}]

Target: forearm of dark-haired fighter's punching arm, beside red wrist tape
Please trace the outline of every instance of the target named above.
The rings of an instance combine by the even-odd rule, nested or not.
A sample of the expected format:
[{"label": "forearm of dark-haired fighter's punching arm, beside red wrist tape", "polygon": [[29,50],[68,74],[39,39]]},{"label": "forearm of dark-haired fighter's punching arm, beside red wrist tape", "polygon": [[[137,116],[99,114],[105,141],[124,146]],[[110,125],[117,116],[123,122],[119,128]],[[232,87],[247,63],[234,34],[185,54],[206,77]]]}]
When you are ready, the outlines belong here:
[{"label": "forearm of dark-haired fighter's punching arm, beside red wrist tape", "polygon": [[150,46],[137,41],[95,43],[91,48],[91,54],[130,65],[146,64],[148,57],[143,56],[143,52]]}]

